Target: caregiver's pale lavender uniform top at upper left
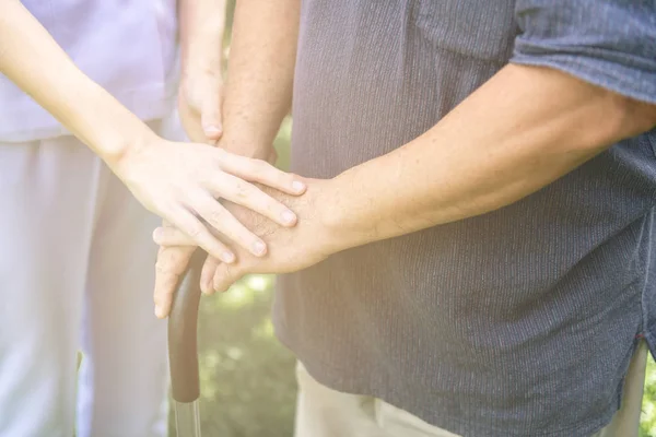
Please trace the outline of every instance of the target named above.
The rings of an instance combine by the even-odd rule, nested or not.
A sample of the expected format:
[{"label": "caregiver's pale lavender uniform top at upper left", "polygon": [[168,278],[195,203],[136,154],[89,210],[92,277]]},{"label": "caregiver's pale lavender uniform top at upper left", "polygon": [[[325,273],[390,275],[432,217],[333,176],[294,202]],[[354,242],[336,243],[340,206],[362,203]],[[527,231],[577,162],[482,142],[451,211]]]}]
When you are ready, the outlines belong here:
[{"label": "caregiver's pale lavender uniform top at upper left", "polygon": [[[176,0],[23,0],[73,62],[143,120],[171,110],[177,76]],[[48,68],[48,66],[43,66]],[[67,133],[0,74],[0,141]]]}]

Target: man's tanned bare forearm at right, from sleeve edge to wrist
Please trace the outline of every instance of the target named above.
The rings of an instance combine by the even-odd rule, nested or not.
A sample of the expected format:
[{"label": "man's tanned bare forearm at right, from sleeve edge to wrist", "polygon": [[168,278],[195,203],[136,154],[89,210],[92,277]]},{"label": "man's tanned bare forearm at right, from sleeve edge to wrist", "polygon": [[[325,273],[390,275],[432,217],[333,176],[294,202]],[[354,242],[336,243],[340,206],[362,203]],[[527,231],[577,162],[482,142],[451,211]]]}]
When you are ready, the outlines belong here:
[{"label": "man's tanned bare forearm at right, from sleeve edge to wrist", "polygon": [[508,66],[422,137],[332,179],[323,216],[339,250],[483,214],[654,123],[653,105]]}]

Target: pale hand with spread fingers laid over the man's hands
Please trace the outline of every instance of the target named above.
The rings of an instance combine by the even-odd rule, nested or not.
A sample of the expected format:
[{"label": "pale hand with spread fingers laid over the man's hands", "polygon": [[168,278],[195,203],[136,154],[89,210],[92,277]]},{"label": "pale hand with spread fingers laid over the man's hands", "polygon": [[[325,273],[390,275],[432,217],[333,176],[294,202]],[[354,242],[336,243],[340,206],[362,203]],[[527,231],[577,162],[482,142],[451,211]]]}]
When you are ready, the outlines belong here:
[{"label": "pale hand with spread fingers laid over the man's hands", "polygon": [[267,252],[267,245],[216,199],[229,200],[291,227],[296,224],[296,215],[250,182],[292,196],[305,191],[297,177],[263,161],[208,144],[165,141],[154,134],[130,147],[113,170],[147,209],[229,263],[234,261],[233,250],[210,229],[256,257]]}]

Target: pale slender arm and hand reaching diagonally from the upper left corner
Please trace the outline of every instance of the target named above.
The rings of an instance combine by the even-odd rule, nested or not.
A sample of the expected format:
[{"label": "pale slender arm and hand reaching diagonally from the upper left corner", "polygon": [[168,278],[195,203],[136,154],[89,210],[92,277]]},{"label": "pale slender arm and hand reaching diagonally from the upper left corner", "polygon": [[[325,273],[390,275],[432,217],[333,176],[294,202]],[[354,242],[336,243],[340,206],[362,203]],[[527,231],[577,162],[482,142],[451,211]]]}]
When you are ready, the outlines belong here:
[{"label": "pale slender arm and hand reaching diagonally from the upper left corner", "polygon": [[254,255],[262,256],[266,245],[216,198],[294,225],[294,215],[282,203],[246,182],[266,179],[266,185],[298,194],[303,189],[292,186],[291,176],[206,144],[161,139],[80,71],[20,1],[2,0],[1,5],[0,72],[101,156],[145,208],[227,262],[234,260],[232,251],[199,217]]}]

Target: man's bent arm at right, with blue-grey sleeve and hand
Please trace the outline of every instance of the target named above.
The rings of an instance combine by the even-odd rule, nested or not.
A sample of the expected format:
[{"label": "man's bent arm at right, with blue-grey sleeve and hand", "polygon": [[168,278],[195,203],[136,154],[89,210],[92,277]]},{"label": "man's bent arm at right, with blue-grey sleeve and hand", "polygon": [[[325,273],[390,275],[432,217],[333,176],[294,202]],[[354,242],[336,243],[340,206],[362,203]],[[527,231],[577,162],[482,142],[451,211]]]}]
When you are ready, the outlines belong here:
[{"label": "man's bent arm at right, with blue-grey sleeve and hand", "polygon": [[[618,140],[651,129],[656,125],[653,13],[651,4],[619,0],[576,7],[566,0],[517,1],[522,33],[514,63],[405,146],[333,179],[307,180],[303,199],[278,196],[298,214],[297,229],[258,228],[254,214],[242,211],[244,223],[271,244],[270,257],[239,253],[235,265],[214,265],[214,288],[225,290],[243,274],[298,270],[308,265],[306,258],[493,211]],[[290,234],[298,238],[282,237]],[[190,244],[172,229],[160,229],[155,240]],[[165,290],[156,290],[156,302]]]}]

